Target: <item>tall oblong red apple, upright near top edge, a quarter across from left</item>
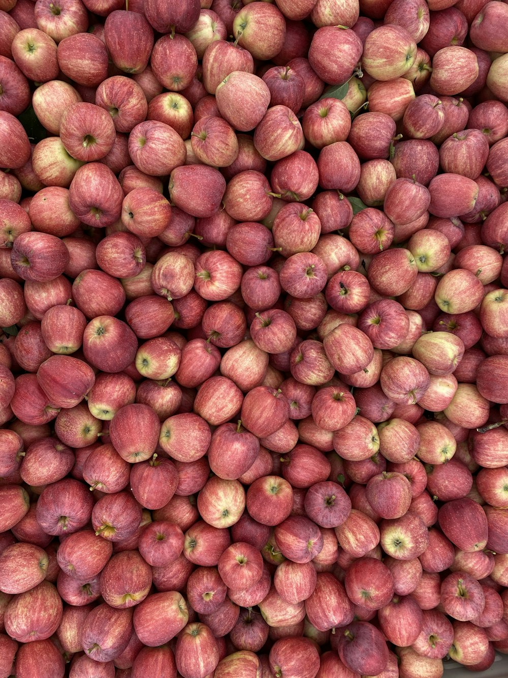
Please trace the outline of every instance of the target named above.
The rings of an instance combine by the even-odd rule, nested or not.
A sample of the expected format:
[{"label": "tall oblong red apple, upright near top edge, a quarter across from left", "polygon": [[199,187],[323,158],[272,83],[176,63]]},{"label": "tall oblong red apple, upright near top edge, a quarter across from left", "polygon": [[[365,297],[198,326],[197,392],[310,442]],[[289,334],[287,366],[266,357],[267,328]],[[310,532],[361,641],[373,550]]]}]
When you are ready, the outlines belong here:
[{"label": "tall oblong red apple, upright near top edge, a quarter across from left", "polygon": [[104,22],[104,42],[117,68],[142,73],[150,60],[154,35],[141,12],[114,9]]}]

